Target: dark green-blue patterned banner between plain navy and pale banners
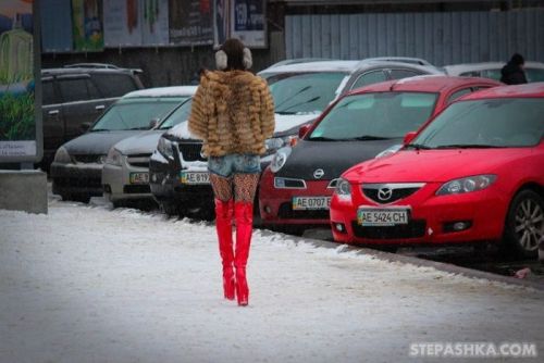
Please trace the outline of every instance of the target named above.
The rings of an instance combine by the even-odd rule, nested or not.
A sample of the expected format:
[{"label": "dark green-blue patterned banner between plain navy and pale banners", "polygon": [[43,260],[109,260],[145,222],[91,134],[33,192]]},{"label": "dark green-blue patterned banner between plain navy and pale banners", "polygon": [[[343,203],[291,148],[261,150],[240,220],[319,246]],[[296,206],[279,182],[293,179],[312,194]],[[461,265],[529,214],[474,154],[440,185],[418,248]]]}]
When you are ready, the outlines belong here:
[{"label": "dark green-blue patterned banner between plain navy and pale banners", "polygon": [[102,0],[72,0],[75,51],[103,49]]}]

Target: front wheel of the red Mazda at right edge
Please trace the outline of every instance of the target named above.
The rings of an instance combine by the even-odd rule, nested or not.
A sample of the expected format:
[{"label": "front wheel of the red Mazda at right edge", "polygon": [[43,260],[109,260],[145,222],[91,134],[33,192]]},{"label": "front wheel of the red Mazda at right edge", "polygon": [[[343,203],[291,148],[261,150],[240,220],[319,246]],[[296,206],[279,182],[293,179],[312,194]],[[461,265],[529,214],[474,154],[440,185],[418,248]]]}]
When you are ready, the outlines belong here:
[{"label": "front wheel of the red Mazda at right edge", "polygon": [[506,247],[521,256],[534,258],[543,235],[544,199],[531,189],[521,190],[514,197],[506,216]]}]

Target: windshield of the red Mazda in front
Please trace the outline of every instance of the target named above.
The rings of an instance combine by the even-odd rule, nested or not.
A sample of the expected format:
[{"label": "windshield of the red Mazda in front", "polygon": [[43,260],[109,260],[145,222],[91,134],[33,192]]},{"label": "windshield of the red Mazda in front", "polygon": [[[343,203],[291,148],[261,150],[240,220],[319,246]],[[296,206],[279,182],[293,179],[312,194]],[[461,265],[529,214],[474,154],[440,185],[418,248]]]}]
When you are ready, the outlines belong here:
[{"label": "windshield of the red Mazda in front", "polygon": [[423,149],[530,147],[544,136],[542,98],[460,101],[407,147]]}]

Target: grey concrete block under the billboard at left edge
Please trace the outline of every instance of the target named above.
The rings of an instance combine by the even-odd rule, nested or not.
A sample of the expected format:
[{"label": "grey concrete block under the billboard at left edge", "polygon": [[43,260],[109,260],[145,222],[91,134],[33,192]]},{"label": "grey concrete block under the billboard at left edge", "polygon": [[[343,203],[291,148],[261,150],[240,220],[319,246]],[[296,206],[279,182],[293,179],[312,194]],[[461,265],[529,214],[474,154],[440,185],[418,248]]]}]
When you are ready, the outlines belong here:
[{"label": "grey concrete block under the billboard at left edge", "polygon": [[47,214],[47,174],[0,170],[0,209]]}]

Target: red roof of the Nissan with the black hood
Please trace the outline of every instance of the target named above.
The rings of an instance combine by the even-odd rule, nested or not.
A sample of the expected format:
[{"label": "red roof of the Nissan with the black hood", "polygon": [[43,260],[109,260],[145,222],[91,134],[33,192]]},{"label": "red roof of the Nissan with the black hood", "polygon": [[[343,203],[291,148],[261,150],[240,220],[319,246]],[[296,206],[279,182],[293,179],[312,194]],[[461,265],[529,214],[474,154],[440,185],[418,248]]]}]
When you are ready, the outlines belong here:
[{"label": "red roof of the Nissan with the black hood", "polygon": [[441,92],[447,89],[457,88],[470,84],[484,84],[490,86],[503,85],[497,80],[482,77],[458,77],[446,75],[422,75],[403,79],[387,80],[379,84],[357,88],[349,95],[366,92],[387,92],[387,91],[421,91]]}]

